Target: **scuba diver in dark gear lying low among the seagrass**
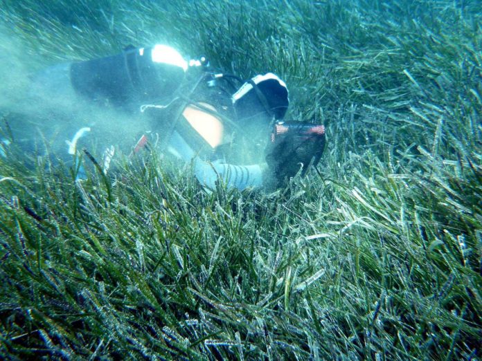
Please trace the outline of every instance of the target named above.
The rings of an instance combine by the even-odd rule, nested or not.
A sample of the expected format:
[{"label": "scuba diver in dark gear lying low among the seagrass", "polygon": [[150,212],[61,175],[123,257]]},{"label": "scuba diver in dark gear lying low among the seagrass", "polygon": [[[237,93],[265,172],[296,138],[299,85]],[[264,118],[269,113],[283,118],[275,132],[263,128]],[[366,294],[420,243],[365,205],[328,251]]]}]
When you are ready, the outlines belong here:
[{"label": "scuba diver in dark gear lying low among the seagrass", "polygon": [[[161,44],[52,66],[37,75],[33,89],[148,118],[151,131],[132,145],[132,152],[152,144],[155,137],[161,151],[191,162],[197,180],[208,189],[219,179],[240,190],[278,187],[301,167],[304,175],[310,164],[316,165],[325,145],[323,126],[283,122],[289,98],[278,76],[267,73],[244,81],[211,71],[204,57],[186,60]],[[86,126],[69,136],[69,154],[77,154],[78,142],[90,132]],[[223,149],[239,137],[253,144],[266,138],[265,160],[231,164],[232,157]],[[105,151],[105,168],[114,151]]]}]

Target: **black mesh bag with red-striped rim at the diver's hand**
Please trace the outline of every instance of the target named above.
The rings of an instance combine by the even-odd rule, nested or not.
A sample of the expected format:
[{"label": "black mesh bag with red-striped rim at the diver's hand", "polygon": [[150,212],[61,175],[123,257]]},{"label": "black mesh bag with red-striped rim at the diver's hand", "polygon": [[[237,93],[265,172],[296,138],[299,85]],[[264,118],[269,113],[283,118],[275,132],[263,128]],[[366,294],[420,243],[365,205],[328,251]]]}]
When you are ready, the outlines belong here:
[{"label": "black mesh bag with red-striped rim at the diver's hand", "polygon": [[274,176],[276,186],[285,178],[294,176],[303,165],[301,175],[308,165],[318,164],[325,148],[325,127],[305,122],[278,122],[271,133],[266,162]]}]

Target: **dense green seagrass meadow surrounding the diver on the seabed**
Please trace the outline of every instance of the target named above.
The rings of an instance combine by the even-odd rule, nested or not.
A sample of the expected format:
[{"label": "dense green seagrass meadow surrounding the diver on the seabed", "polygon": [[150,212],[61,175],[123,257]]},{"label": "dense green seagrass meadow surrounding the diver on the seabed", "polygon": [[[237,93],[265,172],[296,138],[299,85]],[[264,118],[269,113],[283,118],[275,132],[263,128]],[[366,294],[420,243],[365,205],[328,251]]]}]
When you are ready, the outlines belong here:
[{"label": "dense green seagrass meadow surrounding the diver on the seabed", "polygon": [[[0,15],[0,358],[482,359],[480,1],[0,0]],[[156,43],[283,78],[287,118],[325,124],[317,169],[210,193],[155,149],[107,174],[88,149],[75,182],[12,136],[26,74]]]}]

